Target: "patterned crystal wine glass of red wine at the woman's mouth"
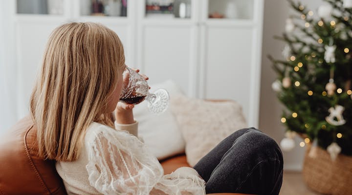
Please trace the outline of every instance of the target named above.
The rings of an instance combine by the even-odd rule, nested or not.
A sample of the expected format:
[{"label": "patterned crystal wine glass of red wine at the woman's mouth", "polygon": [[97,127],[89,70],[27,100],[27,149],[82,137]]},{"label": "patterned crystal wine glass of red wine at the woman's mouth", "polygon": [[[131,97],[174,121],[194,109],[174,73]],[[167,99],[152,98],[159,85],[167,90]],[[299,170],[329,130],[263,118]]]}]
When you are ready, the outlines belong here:
[{"label": "patterned crystal wine glass of red wine at the woman's mouth", "polygon": [[148,109],[154,114],[161,114],[169,106],[170,96],[165,89],[158,89],[149,93],[149,85],[145,78],[130,67],[123,72],[123,87],[120,101],[139,104],[144,99],[148,101]]}]

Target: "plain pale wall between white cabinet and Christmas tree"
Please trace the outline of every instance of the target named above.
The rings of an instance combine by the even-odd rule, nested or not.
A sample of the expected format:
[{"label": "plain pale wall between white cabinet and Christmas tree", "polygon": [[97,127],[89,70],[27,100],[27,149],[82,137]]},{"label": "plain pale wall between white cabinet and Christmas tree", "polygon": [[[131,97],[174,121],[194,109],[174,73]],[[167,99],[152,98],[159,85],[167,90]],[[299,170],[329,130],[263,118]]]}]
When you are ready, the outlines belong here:
[{"label": "plain pale wall between white cabinet and Christmas tree", "polygon": [[[322,0],[301,0],[314,14],[321,5]],[[272,70],[272,63],[267,58],[270,54],[276,59],[282,59],[281,51],[285,43],[274,39],[274,35],[281,35],[285,30],[286,19],[294,12],[286,0],[264,1],[263,23],[263,53],[262,53],[262,78],[259,128],[278,143],[284,138],[285,126],[281,123],[283,106],[271,89],[271,84],[276,78]],[[301,170],[305,148],[299,146],[300,138],[296,138],[296,147],[290,152],[283,152],[284,169]]]}]

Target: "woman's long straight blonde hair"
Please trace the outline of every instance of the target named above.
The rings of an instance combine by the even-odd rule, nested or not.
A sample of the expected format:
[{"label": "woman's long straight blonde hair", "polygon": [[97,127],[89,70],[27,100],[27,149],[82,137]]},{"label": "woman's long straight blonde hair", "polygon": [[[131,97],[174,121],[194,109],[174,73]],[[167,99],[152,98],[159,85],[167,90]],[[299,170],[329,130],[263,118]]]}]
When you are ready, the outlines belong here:
[{"label": "woman's long straight blonde hair", "polygon": [[30,98],[40,157],[76,160],[92,121],[113,127],[105,112],[124,63],[120,39],[101,24],[73,22],[52,32]]}]

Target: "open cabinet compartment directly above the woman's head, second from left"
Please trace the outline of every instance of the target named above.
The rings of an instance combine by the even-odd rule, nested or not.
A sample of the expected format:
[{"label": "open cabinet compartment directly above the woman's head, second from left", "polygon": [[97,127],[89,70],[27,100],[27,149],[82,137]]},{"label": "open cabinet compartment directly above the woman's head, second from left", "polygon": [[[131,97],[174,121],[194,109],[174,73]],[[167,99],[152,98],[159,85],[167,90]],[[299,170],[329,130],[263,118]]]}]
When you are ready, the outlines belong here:
[{"label": "open cabinet compartment directly above the woman's head, second from left", "polygon": [[127,0],[80,0],[80,15],[127,17],[127,6]]}]

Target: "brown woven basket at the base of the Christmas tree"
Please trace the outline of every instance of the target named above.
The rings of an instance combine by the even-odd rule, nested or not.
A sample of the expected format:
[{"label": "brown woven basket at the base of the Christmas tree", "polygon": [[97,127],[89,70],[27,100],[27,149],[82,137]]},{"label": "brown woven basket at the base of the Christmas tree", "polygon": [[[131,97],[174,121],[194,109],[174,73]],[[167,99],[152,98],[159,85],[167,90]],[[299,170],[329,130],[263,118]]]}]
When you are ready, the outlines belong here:
[{"label": "brown woven basket at the base of the Christmas tree", "polygon": [[303,177],[308,187],[323,194],[352,195],[352,157],[330,154],[320,147],[307,144]]}]

